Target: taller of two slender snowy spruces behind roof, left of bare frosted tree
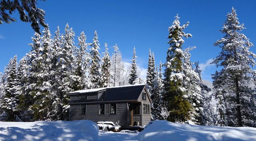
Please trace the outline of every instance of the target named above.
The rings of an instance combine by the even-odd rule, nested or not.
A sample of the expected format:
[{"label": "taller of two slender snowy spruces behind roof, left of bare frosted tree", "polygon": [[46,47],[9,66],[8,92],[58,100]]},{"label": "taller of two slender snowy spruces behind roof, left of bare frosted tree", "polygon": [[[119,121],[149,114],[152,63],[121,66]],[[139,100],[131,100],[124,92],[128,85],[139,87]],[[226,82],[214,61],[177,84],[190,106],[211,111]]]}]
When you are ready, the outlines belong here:
[{"label": "taller of two slender snowy spruces behind roof, left of bare frosted tree", "polygon": [[99,47],[99,41],[98,41],[98,34],[97,31],[94,32],[94,37],[93,37],[93,43],[92,43],[92,48],[90,49],[90,56],[91,56],[91,61],[90,61],[90,71],[89,71],[89,80],[91,83],[90,88],[96,88],[98,80],[100,79],[100,53],[98,49]]}]

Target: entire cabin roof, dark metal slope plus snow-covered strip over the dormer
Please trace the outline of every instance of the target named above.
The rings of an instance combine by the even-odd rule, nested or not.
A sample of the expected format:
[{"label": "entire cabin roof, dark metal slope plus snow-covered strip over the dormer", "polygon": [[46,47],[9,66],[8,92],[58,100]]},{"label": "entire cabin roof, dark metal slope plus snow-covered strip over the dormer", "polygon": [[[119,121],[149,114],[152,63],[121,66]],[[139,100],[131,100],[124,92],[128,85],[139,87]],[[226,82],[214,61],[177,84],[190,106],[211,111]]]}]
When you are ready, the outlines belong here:
[{"label": "entire cabin roof, dark metal slope plus snow-covered strip over the dormer", "polygon": [[102,93],[97,101],[138,100],[145,84],[95,88],[70,92],[73,94]]}]

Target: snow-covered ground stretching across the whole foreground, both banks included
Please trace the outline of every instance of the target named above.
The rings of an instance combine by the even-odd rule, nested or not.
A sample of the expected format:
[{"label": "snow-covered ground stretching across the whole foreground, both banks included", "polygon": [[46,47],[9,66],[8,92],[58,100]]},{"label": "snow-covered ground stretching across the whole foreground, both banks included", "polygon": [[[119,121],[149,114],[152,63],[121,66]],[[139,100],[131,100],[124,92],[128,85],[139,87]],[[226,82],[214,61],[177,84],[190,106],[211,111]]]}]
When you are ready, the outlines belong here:
[{"label": "snow-covered ground stretching across the whole foreground, both banks included", "polygon": [[256,141],[256,128],[155,121],[140,133],[99,131],[90,120],[0,122],[0,141]]}]

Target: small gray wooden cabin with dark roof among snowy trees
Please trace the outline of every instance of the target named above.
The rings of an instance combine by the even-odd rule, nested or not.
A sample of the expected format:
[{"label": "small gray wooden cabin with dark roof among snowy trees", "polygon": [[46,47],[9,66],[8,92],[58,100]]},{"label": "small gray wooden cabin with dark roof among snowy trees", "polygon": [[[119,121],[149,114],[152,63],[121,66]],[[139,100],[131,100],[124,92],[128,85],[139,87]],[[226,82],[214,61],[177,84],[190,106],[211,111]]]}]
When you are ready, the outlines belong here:
[{"label": "small gray wooden cabin with dark roof among snowy trees", "polygon": [[78,90],[70,92],[69,119],[119,121],[123,128],[137,121],[144,126],[151,119],[151,102],[145,84]]}]

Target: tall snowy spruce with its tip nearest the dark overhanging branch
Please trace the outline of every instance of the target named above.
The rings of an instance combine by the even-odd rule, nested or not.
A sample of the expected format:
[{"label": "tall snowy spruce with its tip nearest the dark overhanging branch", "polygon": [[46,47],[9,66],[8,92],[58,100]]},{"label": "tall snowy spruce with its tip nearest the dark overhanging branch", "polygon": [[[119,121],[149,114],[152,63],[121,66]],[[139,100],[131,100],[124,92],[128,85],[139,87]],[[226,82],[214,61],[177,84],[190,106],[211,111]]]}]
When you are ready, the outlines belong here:
[{"label": "tall snowy spruce with its tip nearest the dark overhanging branch", "polygon": [[37,59],[37,63],[40,63],[39,73],[37,74],[37,86],[38,91],[34,96],[35,102],[32,105],[34,111],[34,118],[40,120],[46,120],[47,114],[52,110],[52,80],[50,77],[50,70],[52,67],[52,39],[49,26],[43,30],[43,36],[41,39],[40,57]]}]

